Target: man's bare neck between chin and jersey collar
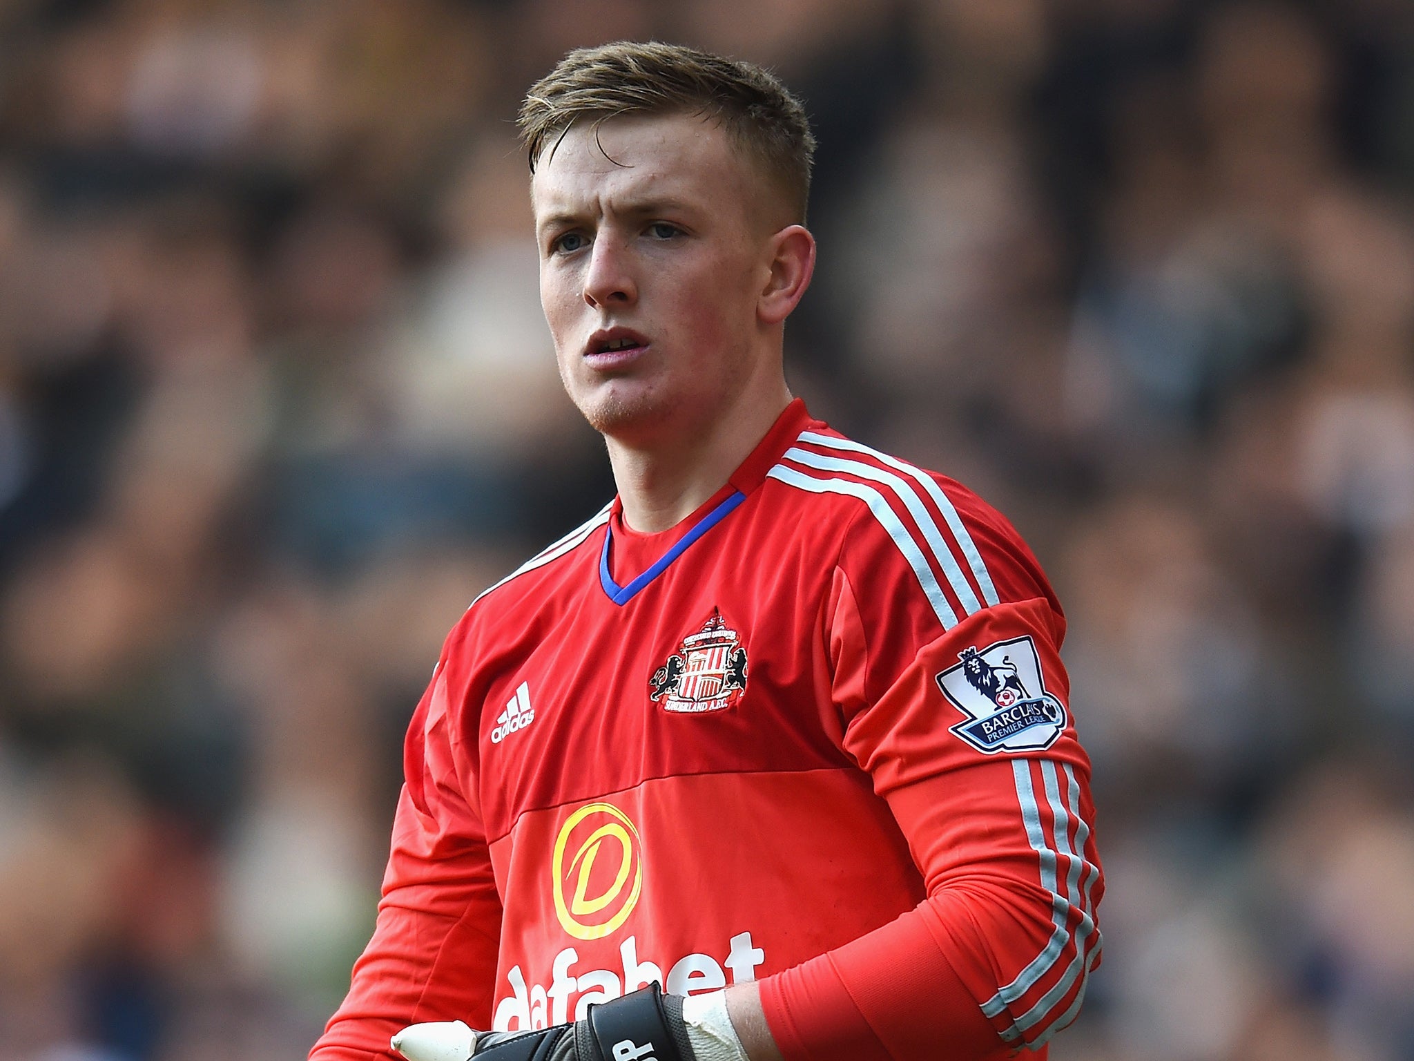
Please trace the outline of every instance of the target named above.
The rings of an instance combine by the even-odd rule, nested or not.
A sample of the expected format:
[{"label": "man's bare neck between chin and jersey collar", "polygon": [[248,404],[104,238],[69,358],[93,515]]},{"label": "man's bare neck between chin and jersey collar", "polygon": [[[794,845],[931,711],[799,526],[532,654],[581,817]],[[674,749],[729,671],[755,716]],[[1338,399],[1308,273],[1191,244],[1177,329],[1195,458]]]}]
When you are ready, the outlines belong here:
[{"label": "man's bare neck between chin and jersey collar", "polygon": [[725,485],[789,403],[790,392],[781,381],[779,389],[738,403],[727,416],[694,423],[690,433],[673,431],[649,444],[607,436],[624,522],[655,533],[690,516]]}]

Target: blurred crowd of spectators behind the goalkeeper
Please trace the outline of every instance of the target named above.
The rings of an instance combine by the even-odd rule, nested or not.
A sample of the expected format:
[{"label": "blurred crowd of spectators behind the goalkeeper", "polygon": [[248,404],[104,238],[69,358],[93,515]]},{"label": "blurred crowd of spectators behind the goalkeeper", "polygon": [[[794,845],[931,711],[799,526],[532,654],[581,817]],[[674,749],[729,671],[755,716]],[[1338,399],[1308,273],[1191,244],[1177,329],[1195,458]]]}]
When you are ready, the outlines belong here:
[{"label": "blurred crowd of spectators behind the goalkeeper", "polygon": [[1066,604],[1056,1061],[1414,1058],[1414,6],[0,0],[0,1061],[303,1057],[444,632],[611,494],[510,119],[775,68],[817,416]]}]

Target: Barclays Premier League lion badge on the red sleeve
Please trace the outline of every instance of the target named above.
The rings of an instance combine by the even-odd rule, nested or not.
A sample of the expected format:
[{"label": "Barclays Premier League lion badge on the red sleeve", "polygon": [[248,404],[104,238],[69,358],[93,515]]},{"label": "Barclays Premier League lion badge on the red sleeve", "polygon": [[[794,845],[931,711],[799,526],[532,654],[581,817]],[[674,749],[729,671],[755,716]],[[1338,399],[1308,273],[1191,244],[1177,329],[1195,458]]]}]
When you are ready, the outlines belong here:
[{"label": "Barclays Premier League lion badge on the red sleeve", "polygon": [[1046,692],[1041,659],[1029,637],[964,648],[957,666],[936,676],[957,710],[967,716],[952,731],[977,751],[1049,748],[1065,729],[1065,706]]}]

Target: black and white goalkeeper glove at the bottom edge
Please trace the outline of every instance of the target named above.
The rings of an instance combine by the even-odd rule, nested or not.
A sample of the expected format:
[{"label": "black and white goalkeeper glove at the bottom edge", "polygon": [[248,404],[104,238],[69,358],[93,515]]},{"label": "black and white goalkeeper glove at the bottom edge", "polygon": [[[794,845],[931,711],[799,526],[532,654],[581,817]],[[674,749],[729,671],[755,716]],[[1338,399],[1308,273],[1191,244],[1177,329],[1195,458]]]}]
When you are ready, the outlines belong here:
[{"label": "black and white goalkeeper glove at the bottom edge", "polygon": [[471,1031],[413,1024],[393,1037],[409,1061],[696,1061],[683,1000],[656,983],[598,1006],[584,1020],[543,1031]]}]

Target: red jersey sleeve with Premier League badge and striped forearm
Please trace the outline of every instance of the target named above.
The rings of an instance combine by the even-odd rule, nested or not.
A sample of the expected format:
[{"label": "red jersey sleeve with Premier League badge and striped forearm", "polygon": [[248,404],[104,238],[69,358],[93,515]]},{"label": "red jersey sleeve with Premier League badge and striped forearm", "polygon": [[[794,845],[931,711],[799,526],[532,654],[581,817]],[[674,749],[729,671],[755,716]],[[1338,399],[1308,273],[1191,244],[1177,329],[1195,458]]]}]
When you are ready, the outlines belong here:
[{"label": "red jersey sleeve with Premier League badge and striped forearm", "polygon": [[766,978],[768,1023],[788,1061],[1044,1050],[1099,962],[1104,887],[1063,618],[1019,542],[990,556],[995,603],[940,634],[916,580],[887,550],[863,552],[829,607],[834,697],[926,897]]}]

